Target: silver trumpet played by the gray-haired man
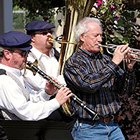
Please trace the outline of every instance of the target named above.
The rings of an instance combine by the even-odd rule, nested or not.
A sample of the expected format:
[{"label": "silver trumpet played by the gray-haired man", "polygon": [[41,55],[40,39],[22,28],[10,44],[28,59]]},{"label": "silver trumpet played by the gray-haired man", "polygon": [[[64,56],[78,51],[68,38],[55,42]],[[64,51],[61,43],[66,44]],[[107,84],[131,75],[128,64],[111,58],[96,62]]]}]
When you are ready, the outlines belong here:
[{"label": "silver trumpet played by the gray-haired man", "polygon": [[[107,52],[109,54],[113,54],[114,50],[116,49],[116,47],[118,45],[116,44],[108,44],[108,45],[102,45],[102,44],[99,44],[99,46],[102,48],[106,48]],[[130,60],[135,60],[137,62],[140,62],[140,50],[139,49],[134,49],[134,48],[131,48],[130,51],[128,52],[128,54],[135,54],[136,57],[135,58],[130,58]]]}]

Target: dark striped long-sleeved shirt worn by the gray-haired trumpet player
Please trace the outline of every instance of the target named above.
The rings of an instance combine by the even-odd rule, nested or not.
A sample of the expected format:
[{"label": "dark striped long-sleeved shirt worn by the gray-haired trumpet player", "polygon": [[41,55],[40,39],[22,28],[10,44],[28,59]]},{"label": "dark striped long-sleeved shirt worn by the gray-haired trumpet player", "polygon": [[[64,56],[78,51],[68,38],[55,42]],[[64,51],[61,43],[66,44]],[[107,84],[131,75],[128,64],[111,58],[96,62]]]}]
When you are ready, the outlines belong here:
[{"label": "dark striped long-sleeved shirt worn by the gray-haired trumpet player", "polygon": [[[116,114],[120,109],[119,94],[131,93],[135,85],[134,72],[122,70],[109,56],[81,48],[66,61],[63,72],[72,92],[103,117]],[[72,105],[80,118],[91,118],[82,107],[74,102]]]}]

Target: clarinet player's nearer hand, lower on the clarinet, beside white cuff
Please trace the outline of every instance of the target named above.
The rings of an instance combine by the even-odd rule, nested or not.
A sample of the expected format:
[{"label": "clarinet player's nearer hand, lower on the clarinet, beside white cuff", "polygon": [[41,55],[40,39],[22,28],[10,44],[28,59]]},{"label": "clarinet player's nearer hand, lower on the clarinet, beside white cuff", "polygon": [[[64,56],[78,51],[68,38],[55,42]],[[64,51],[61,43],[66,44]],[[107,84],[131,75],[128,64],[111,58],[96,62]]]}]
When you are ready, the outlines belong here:
[{"label": "clarinet player's nearer hand, lower on the clarinet, beside white cuff", "polygon": [[72,96],[71,91],[67,87],[61,87],[56,94],[56,100],[60,105],[64,104]]}]

